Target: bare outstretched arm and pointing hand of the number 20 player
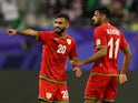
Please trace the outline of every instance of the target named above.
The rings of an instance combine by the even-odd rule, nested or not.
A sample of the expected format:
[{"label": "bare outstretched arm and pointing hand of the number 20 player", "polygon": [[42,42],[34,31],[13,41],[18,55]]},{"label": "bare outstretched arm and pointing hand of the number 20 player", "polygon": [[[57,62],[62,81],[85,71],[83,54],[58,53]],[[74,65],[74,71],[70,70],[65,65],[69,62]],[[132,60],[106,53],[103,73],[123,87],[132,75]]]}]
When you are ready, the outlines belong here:
[{"label": "bare outstretched arm and pointing hand of the number 20 player", "polygon": [[37,31],[34,31],[32,29],[6,29],[6,31],[9,35],[14,35],[14,34],[19,33],[19,34],[23,34],[23,35],[36,37],[36,34],[37,34]]}]

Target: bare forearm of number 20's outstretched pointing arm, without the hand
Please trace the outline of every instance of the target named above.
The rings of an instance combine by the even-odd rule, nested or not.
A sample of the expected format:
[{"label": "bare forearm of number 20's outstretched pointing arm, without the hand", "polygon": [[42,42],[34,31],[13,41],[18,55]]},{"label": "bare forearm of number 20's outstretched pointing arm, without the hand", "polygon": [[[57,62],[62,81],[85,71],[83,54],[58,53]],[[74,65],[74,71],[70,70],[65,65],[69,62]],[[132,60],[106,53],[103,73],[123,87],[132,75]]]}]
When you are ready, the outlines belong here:
[{"label": "bare forearm of number 20's outstretched pointing arm, without the hand", "polygon": [[31,30],[31,29],[16,29],[17,33],[23,34],[23,35],[31,35],[36,37],[37,31]]}]

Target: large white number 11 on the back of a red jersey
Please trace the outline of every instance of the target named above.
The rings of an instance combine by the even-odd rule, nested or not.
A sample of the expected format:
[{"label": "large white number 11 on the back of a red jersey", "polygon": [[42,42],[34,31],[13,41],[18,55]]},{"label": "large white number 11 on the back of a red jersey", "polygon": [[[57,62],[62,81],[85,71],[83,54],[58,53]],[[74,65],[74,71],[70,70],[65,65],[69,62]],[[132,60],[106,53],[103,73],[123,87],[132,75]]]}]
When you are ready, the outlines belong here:
[{"label": "large white number 11 on the back of a red jersey", "polygon": [[[114,48],[114,38],[111,38],[108,42],[108,47],[109,47],[109,58],[112,59],[117,59],[118,55],[118,49],[119,49],[119,39],[117,39],[115,41],[115,48]],[[115,54],[115,55],[114,55]]]}]

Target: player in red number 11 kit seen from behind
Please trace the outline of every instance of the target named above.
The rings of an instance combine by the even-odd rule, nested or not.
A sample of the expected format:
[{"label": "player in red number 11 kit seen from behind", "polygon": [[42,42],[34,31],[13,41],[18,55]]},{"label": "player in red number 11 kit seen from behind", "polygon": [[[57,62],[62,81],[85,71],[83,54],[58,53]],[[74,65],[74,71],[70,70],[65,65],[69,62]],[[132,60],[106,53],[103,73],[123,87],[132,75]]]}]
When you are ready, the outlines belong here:
[{"label": "player in red number 11 kit seen from behind", "polygon": [[[110,11],[106,7],[95,10],[92,21],[95,54],[75,64],[83,65],[91,62],[93,66],[85,90],[85,103],[112,103],[116,99],[117,84],[127,81],[126,72],[131,60],[131,51],[120,30],[109,23]],[[121,71],[118,69],[118,53],[125,56]]]}]

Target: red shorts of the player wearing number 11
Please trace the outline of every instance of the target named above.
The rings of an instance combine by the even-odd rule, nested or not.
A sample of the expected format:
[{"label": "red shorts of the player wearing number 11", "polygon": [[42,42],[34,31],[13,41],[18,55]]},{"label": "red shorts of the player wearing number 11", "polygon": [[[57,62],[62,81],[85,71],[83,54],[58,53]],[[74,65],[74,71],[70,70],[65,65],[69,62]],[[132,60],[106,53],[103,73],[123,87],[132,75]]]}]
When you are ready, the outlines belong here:
[{"label": "red shorts of the player wearing number 11", "polygon": [[117,93],[118,78],[105,75],[90,75],[85,97],[93,97],[99,100],[115,100]]}]

